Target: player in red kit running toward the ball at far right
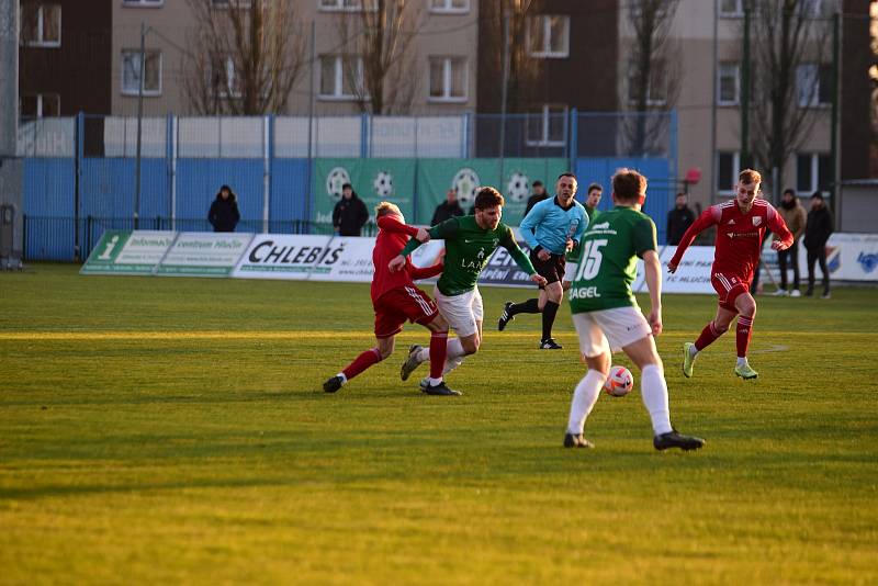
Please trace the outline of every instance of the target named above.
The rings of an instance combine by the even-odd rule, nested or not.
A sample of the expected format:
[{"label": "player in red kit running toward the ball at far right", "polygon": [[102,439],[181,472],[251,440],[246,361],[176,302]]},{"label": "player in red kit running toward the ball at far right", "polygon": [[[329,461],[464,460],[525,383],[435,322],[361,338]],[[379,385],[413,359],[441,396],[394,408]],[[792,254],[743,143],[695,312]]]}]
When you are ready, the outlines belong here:
[{"label": "player in red kit running toward the ball at far right", "polygon": [[674,258],[667,263],[668,272],[677,270],[686,248],[695,237],[710,226],[717,226],[716,251],[710,282],[719,294],[717,316],[710,322],[695,342],[683,345],[683,374],[693,375],[693,363],[698,352],[725,334],[738,315],[738,363],[734,373],[744,380],[755,379],[758,373],[747,363],[747,347],[756,315],[756,300],[750,294],[753,271],[759,261],[765,230],[777,235],[772,243],[775,250],[785,250],[792,244],[792,234],[784,218],[772,204],[759,194],[762,176],[745,169],[738,176],[734,200],[711,205],[689,226],[683,235]]}]

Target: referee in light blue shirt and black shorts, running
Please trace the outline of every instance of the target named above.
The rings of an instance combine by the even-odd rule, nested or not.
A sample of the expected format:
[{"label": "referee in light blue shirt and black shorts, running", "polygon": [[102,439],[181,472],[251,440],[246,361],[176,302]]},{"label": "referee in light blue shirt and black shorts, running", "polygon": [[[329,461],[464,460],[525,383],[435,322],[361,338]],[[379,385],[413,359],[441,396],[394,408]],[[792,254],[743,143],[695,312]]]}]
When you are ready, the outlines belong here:
[{"label": "referee in light blue shirt and black shorts, running", "polygon": [[552,337],[552,326],[564,296],[564,255],[579,244],[588,224],[585,207],[573,199],[575,195],[576,176],[562,173],[555,182],[555,196],[536,204],[521,221],[519,229],[530,247],[530,262],[548,284],[540,286],[538,297],[521,303],[507,301],[497,320],[497,329],[503,331],[517,314],[542,313],[540,350],[561,349]]}]

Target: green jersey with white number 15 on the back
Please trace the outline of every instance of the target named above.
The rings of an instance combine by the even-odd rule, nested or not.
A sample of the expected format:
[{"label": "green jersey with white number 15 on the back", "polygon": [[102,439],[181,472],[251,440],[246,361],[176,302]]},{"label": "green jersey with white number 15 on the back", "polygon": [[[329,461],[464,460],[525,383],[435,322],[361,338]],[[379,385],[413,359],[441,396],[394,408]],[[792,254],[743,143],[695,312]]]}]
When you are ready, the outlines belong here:
[{"label": "green jersey with white number 15 on the back", "polygon": [[655,224],[650,216],[617,206],[601,212],[583,235],[573,285],[571,313],[597,312],[615,307],[638,307],[631,291],[637,278],[637,259],[657,250]]}]

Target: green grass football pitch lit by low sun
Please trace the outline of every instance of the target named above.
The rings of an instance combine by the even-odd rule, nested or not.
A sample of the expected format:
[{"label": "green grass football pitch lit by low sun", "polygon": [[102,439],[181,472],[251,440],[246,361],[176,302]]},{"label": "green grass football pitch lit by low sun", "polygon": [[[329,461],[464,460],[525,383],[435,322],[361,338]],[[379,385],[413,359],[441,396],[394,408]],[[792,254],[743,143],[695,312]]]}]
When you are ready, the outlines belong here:
[{"label": "green grass football pitch lit by low sun", "polygon": [[693,453],[653,450],[637,371],[564,450],[566,304],[541,352],[536,316],[495,330],[530,292],[482,292],[464,396],[399,381],[418,326],[327,395],[368,285],[0,274],[0,583],[878,582],[878,290],[758,297],[747,383],[731,335],[683,377],[716,302],[666,296]]}]

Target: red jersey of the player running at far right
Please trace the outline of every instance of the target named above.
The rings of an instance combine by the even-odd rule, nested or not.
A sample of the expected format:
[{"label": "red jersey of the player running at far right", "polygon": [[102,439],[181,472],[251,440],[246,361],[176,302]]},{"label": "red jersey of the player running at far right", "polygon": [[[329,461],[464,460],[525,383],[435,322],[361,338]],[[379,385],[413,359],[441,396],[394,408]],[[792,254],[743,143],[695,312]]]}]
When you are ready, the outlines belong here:
[{"label": "red jersey of the player running at far right", "polygon": [[766,229],[775,233],[785,245],[792,244],[792,234],[772,204],[754,200],[753,207],[745,214],[738,202],[731,200],[705,210],[683,235],[669,264],[678,266],[695,237],[710,226],[717,226],[712,272],[738,277],[745,283],[753,279]]}]

